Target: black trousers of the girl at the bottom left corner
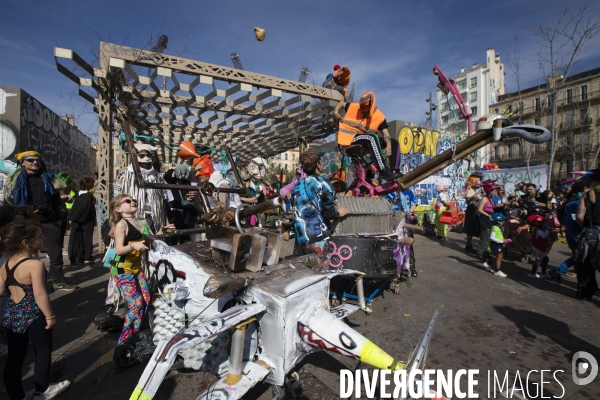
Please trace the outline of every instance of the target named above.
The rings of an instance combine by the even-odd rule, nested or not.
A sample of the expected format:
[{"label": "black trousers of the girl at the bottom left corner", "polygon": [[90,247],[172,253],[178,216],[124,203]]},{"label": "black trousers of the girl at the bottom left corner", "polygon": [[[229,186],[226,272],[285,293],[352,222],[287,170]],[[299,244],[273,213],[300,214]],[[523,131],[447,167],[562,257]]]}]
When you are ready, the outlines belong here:
[{"label": "black trousers of the girl at the bottom left corner", "polygon": [[35,353],[35,391],[45,392],[50,386],[52,367],[52,329],[46,329],[46,319],[42,316],[35,321],[25,333],[15,333],[6,329],[8,356],[4,366],[4,386],[10,399],[25,398],[23,390],[23,362],[27,356],[29,342]]}]

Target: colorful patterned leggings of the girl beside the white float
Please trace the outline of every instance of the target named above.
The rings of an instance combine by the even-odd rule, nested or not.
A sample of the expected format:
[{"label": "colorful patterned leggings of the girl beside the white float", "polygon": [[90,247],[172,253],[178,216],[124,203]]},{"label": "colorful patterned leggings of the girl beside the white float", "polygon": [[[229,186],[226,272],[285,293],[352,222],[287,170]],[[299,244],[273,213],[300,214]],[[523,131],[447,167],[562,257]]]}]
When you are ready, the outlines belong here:
[{"label": "colorful patterned leggings of the girl beside the white float", "polygon": [[119,336],[119,345],[122,345],[125,344],[127,338],[136,335],[140,331],[142,318],[148,305],[150,305],[150,293],[148,292],[146,277],[141,271],[137,276],[126,273],[115,275],[113,279],[127,302],[123,332]]}]

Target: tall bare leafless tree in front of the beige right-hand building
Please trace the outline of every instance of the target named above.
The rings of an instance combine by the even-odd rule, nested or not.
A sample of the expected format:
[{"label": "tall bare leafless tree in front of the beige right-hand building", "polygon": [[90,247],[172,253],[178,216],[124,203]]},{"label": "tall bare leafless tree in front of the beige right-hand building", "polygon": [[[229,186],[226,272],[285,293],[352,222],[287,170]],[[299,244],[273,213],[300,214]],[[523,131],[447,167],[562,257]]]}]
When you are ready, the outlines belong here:
[{"label": "tall bare leafless tree in front of the beige right-hand building", "polygon": [[577,61],[585,45],[600,34],[600,17],[587,17],[587,5],[574,14],[568,8],[556,16],[547,25],[538,25],[531,29],[540,46],[539,62],[548,78],[548,100],[551,107],[550,139],[550,172],[547,186],[550,187],[553,177],[553,164],[557,150],[558,131],[557,110],[558,95],[569,84],[568,78],[576,72]]}]

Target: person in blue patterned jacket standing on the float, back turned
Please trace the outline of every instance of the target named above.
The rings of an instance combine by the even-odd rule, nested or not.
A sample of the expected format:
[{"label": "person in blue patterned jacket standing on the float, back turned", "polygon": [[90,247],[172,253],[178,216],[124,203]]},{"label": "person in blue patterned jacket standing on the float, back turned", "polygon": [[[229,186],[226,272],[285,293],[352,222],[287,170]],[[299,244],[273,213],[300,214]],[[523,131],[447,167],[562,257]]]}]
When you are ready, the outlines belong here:
[{"label": "person in blue patterned jacket standing on the float, back turned", "polygon": [[296,241],[294,256],[316,254],[321,262],[319,269],[329,267],[329,244],[332,234],[330,221],[342,218],[350,209],[336,207],[335,189],[319,174],[323,169],[316,153],[306,152],[300,157],[306,177],[299,179],[293,189],[294,231]]}]

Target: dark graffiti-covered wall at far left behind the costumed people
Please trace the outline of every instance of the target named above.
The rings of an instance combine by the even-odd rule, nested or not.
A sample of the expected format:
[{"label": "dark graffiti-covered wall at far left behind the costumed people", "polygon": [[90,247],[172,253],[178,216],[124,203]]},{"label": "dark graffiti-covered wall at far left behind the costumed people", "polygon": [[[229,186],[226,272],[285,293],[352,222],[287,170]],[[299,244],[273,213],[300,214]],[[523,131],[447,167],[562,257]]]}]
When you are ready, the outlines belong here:
[{"label": "dark graffiti-covered wall at far left behind the costumed people", "polygon": [[35,150],[48,169],[75,179],[92,171],[90,138],[19,88],[0,86],[0,143],[3,160]]}]

